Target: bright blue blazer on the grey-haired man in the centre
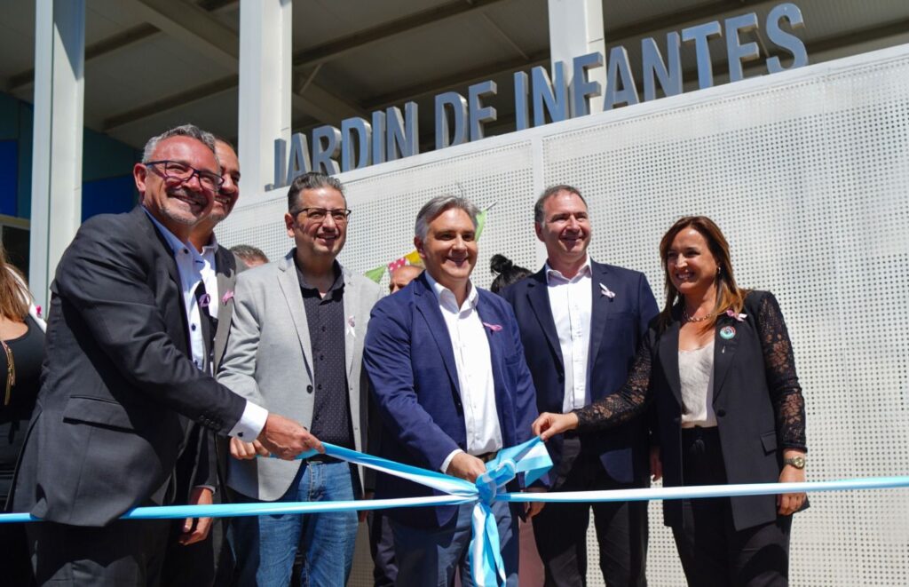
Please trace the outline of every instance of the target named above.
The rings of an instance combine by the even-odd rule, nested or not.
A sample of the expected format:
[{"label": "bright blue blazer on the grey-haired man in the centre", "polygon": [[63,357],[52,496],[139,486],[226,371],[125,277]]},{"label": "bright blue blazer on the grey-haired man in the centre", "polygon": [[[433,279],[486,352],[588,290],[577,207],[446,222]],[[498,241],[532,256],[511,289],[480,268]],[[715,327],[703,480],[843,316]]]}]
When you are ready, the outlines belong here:
[{"label": "bright blue blazer on the grey-haired man in the centre", "polygon": [[[504,447],[533,436],[537,416],[534,382],[524,363],[524,349],[514,313],[495,294],[482,289],[476,310],[480,319],[501,329],[485,328],[492,354],[495,407]],[[366,373],[382,418],[380,455],[439,471],[455,449],[466,450],[464,407],[454,350],[445,318],[425,275],[375,304],[366,332]],[[379,474],[376,497],[432,495],[422,485]],[[435,492],[438,494],[438,492]],[[449,522],[454,506],[392,510],[390,515],[416,527]]]}]

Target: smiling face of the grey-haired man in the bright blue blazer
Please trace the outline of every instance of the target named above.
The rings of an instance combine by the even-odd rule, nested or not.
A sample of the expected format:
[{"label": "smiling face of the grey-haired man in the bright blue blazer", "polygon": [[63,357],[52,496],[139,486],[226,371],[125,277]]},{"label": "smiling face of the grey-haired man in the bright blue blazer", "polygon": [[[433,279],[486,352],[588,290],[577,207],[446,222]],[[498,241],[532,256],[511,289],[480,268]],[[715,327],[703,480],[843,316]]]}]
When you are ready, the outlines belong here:
[{"label": "smiling face of the grey-haired man in the bright blue blazer", "polygon": [[457,293],[470,280],[476,264],[476,229],[461,208],[448,208],[426,226],[426,238],[414,237],[426,271]]}]

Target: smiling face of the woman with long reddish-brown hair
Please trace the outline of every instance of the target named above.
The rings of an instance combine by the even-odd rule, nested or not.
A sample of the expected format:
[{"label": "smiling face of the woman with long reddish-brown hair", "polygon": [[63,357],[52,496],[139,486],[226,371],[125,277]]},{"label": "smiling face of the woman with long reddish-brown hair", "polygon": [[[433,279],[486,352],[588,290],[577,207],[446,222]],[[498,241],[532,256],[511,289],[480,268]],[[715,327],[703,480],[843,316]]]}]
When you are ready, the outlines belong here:
[{"label": "smiling face of the woman with long reddish-brown hair", "polygon": [[669,282],[679,294],[699,299],[716,288],[719,265],[707,239],[693,227],[683,228],[666,251],[664,259]]}]

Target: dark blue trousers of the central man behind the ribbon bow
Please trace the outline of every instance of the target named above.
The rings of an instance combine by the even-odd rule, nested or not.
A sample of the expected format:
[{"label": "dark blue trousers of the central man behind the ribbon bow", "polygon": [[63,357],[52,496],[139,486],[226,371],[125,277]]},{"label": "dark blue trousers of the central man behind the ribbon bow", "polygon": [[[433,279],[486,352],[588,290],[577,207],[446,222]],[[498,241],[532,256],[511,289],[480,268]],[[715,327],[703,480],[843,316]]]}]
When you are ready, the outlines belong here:
[{"label": "dark blue trousers of the central man behind the ribbon bow", "polygon": [[[493,502],[492,508],[499,529],[507,586],[517,587],[519,553],[517,517],[512,516],[506,502]],[[473,503],[459,505],[452,522],[445,524],[443,528],[432,530],[414,528],[392,520],[395,559],[398,564],[397,584],[451,587],[454,585],[454,571],[459,569],[461,585],[473,587],[474,578],[467,555],[473,536],[471,523],[473,512]],[[435,517],[433,512],[426,515]]]}]

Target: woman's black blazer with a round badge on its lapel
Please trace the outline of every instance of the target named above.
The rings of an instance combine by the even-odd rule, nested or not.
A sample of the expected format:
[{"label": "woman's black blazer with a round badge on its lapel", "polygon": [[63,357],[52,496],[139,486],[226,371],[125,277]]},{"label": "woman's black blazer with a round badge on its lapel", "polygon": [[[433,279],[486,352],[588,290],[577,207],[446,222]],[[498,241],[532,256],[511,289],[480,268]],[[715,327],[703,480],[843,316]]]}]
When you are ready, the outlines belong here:
[{"label": "woman's black blazer with a round badge on its lapel", "polygon": [[[774,295],[751,292],[745,299],[743,313],[747,317],[742,322],[725,314],[716,321],[714,413],[728,482],[775,483],[783,467],[783,449],[804,448],[804,402],[795,375],[792,346]],[[654,320],[644,337],[631,381],[623,393],[645,385],[646,377],[640,374],[649,372],[646,393],[656,406],[663,483],[667,487],[678,486],[684,485],[678,363],[681,323],[676,316],[663,333],[659,333],[655,323]],[[765,348],[762,336],[771,339],[774,348]],[[770,355],[773,358],[768,361]],[[797,397],[791,398],[792,395]],[[733,497],[731,502],[736,530],[776,519],[775,495]],[[682,523],[679,500],[664,501],[664,522],[668,526]]]}]

